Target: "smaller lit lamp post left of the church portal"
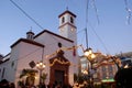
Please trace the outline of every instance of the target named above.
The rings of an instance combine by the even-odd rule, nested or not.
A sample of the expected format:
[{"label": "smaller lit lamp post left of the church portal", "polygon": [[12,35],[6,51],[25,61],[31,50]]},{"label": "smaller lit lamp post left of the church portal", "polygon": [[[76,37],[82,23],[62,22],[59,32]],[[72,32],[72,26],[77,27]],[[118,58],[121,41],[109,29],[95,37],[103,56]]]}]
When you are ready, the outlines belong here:
[{"label": "smaller lit lamp post left of the church portal", "polygon": [[36,68],[40,70],[40,88],[41,88],[41,86],[42,86],[42,79],[41,79],[41,77],[42,77],[42,72],[45,68],[45,64],[41,61],[41,62],[38,62],[36,64]]}]

